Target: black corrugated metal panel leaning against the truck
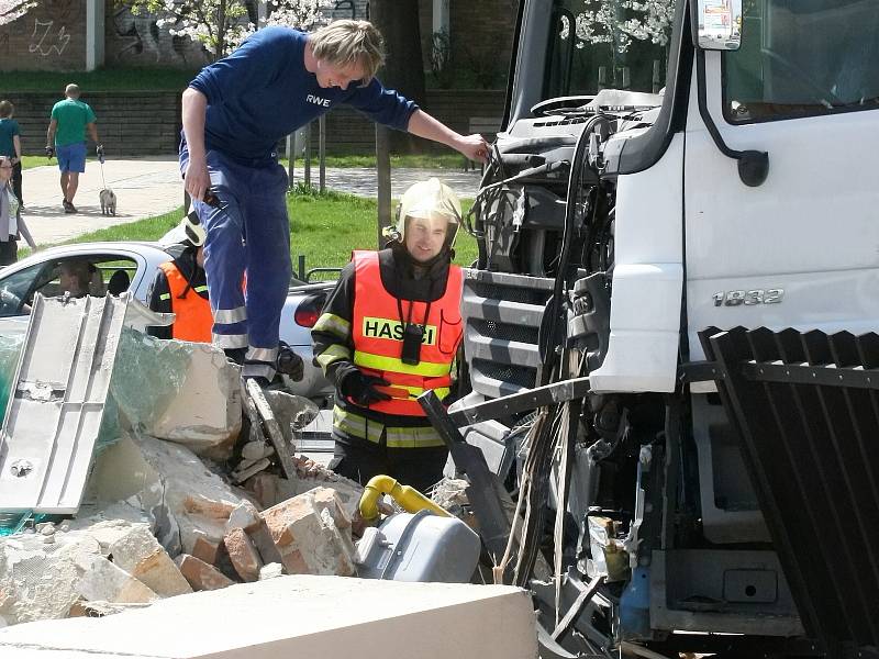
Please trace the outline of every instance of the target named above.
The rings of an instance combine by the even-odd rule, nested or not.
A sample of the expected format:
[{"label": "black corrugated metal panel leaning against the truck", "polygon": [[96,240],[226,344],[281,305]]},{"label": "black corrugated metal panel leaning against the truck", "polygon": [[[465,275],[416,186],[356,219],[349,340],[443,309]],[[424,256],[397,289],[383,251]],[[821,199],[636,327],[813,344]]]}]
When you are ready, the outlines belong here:
[{"label": "black corrugated metal panel leaning against the truck", "polygon": [[806,634],[879,647],[879,336],[700,335]]}]

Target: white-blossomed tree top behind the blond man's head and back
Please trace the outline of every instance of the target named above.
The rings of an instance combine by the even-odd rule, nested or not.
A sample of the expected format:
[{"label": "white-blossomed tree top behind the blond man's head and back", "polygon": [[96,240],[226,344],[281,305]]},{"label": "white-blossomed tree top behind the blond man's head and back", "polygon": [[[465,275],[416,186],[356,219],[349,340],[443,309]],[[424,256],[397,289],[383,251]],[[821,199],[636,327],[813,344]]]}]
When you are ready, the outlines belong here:
[{"label": "white-blossomed tree top behind the blond man's head and back", "polygon": [[[2,0],[0,0],[2,1]],[[118,0],[132,13],[157,16],[156,25],[173,36],[186,36],[204,46],[211,59],[234,51],[257,30],[257,0]],[[330,0],[267,0],[264,25],[310,30],[325,21]]]}]

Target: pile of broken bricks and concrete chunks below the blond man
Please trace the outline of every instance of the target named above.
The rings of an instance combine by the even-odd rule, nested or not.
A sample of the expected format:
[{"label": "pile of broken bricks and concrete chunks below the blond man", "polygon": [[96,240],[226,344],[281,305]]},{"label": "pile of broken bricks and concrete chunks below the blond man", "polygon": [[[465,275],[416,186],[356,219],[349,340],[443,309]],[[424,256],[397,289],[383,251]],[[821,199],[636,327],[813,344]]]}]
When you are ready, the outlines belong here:
[{"label": "pile of broken bricks and concrete chunks below the blond man", "polygon": [[[302,399],[274,396],[290,399],[272,402],[289,443]],[[303,457],[285,478],[270,443],[238,439],[241,420],[240,373],[222,350],[123,331],[77,514],[0,537],[0,627],[285,573],[355,574],[360,487]],[[242,461],[260,469],[241,478]]]}]

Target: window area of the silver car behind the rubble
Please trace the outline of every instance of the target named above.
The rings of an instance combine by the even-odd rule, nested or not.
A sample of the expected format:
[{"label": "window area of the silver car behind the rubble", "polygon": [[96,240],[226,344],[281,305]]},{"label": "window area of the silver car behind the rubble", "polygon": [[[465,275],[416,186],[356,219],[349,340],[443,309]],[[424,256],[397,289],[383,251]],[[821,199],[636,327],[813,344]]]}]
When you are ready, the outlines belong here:
[{"label": "window area of the silver car behind the rubble", "polygon": [[133,259],[116,255],[55,258],[2,279],[0,316],[30,313],[36,293],[45,298],[119,295],[129,289],[136,271]]}]

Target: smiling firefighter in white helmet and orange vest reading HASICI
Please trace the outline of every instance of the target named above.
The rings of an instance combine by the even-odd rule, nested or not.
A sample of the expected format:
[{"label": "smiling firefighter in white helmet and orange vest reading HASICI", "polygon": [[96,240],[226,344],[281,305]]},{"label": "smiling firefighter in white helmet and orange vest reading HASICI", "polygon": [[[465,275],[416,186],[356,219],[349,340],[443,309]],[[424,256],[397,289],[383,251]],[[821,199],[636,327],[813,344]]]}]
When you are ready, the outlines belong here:
[{"label": "smiling firefighter in white helmet and orange vest reading HASICI", "polygon": [[422,492],[448,451],[415,400],[453,390],[461,342],[455,192],[432,178],[403,194],[381,252],[355,252],[312,328],[314,362],[335,382],[330,468],[366,483],[390,476]]}]

